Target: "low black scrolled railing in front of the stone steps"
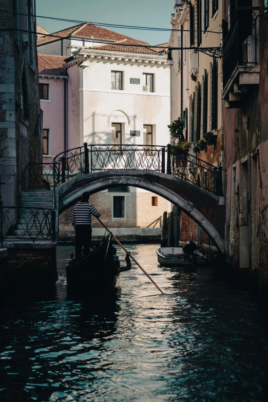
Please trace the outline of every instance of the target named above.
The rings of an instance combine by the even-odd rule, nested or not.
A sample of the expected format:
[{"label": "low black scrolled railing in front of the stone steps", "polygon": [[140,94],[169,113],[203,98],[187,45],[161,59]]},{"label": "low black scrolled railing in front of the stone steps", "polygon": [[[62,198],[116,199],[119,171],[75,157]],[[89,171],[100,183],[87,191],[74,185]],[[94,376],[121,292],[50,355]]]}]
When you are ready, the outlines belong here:
[{"label": "low black scrolled railing in front of the stone steps", "polygon": [[1,243],[6,239],[34,241],[55,239],[55,211],[50,208],[2,206]]}]

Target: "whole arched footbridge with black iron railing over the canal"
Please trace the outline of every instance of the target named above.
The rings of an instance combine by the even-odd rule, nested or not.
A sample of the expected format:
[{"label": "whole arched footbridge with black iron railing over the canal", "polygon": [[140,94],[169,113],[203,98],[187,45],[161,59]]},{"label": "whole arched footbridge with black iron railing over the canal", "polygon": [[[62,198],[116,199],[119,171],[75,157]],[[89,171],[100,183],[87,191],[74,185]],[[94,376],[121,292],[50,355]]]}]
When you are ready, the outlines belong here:
[{"label": "whole arched footbridge with black iron railing over the canal", "polygon": [[180,207],[223,253],[225,205],[221,167],[170,145],[85,143],[55,157],[50,171],[44,164],[42,169],[50,188],[54,187],[56,234],[57,218],[84,191],[94,194],[115,185],[130,185],[149,190]]}]

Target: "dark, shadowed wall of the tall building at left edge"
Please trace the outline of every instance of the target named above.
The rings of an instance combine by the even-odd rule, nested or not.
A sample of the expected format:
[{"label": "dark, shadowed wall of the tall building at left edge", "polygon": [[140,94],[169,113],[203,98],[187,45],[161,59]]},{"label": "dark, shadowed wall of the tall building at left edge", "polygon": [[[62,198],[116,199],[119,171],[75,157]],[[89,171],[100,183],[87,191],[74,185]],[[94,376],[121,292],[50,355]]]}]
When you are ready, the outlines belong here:
[{"label": "dark, shadowed wall of the tall building at left edge", "polygon": [[[0,33],[0,176],[6,183],[2,188],[5,205],[17,204],[17,187],[25,177],[26,162],[42,161],[41,111],[39,101],[39,78],[37,51],[34,43],[34,63],[29,63],[29,48],[23,47],[27,34],[14,33],[14,2],[0,0],[0,27],[10,29]],[[5,13],[3,10],[8,11]],[[18,0],[18,12],[27,14],[27,2]],[[19,15],[18,27],[28,30],[27,15]],[[33,35],[34,38],[34,35]],[[24,93],[27,99],[27,113],[21,109]],[[24,119],[24,121],[22,120]],[[26,141],[24,141],[26,139]],[[29,144],[29,145],[26,145]],[[5,191],[8,188],[8,192]]]}]

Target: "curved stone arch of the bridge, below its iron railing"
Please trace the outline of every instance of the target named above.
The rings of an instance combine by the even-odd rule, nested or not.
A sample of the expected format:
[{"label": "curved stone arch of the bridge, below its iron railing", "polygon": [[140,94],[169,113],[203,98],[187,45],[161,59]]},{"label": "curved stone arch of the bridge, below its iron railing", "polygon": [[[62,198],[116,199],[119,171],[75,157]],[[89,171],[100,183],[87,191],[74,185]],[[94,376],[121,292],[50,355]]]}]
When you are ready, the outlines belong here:
[{"label": "curved stone arch of the bridge, below its iron railing", "polygon": [[140,187],[177,205],[201,226],[223,253],[225,206],[219,205],[218,197],[180,178],[156,171],[105,170],[75,177],[56,189],[56,215],[79,201],[84,191],[94,194],[116,185]]}]

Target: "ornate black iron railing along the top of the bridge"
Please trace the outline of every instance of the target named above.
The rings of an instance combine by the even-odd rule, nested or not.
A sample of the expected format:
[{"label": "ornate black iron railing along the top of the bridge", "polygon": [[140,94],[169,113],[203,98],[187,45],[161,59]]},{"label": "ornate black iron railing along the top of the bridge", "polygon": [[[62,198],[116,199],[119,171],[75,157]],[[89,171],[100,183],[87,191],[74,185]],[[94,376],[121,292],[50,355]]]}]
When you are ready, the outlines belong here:
[{"label": "ornate black iron railing along the top of the bridge", "polygon": [[222,195],[222,168],[170,145],[88,145],[59,154],[53,161],[54,186],[103,170],[153,170]]}]

